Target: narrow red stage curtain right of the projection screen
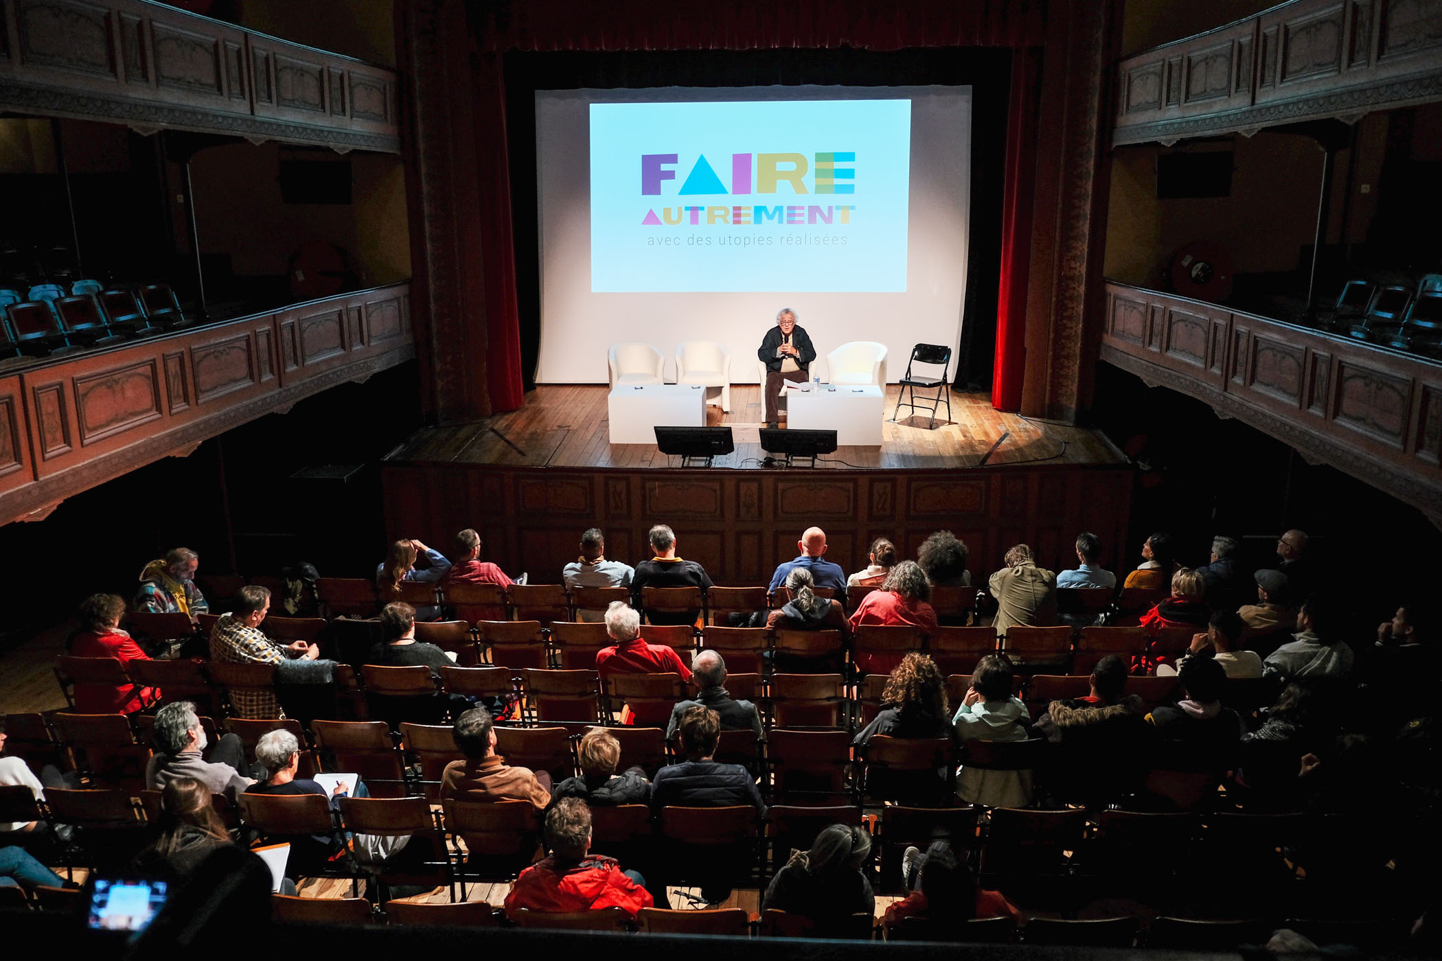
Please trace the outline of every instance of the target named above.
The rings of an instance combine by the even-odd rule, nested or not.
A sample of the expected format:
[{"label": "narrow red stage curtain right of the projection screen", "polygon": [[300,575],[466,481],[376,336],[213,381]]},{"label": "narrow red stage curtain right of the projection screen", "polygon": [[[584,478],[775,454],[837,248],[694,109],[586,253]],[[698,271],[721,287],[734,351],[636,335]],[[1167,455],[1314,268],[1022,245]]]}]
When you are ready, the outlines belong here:
[{"label": "narrow red stage curtain right of the projection screen", "polygon": [[992,406],[1021,409],[1027,369],[1027,274],[1031,267],[1031,199],[1037,160],[1041,52],[1017,50],[1007,105],[1007,170],[1001,207],[1001,281],[996,290],[996,362]]}]

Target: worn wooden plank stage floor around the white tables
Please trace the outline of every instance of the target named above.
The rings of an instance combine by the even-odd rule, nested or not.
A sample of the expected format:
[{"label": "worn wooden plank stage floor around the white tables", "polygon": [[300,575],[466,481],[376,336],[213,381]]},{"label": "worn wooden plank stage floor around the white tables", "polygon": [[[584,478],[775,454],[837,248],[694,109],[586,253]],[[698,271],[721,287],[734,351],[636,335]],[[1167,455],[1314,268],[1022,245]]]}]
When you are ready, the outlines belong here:
[{"label": "worn wooden plank stage floor around the white tables", "polygon": [[[887,388],[885,411],[895,409],[898,386]],[[653,444],[609,444],[606,385],[542,385],[525,406],[486,421],[414,434],[388,461],[496,464],[506,467],[607,467],[645,470],[679,467],[679,457]],[[907,414],[907,408],[901,409]],[[1125,464],[1126,457],[1100,431],[1027,419],[992,409],[985,393],[952,393],[952,419],[942,406],[936,429],[926,414],[890,419],[881,447],[838,447],[818,468],[937,470],[1004,464]],[[761,388],[734,385],[731,412],[707,406],[707,424],[730,425],[735,451],[714,468],[761,468]],[[782,424],[786,424],[783,415]],[[998,444],[998,441],[1001,441]],[[995,450],[994,450],[995,448]]]}]

